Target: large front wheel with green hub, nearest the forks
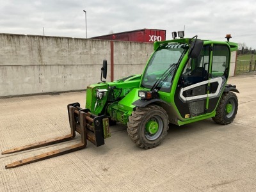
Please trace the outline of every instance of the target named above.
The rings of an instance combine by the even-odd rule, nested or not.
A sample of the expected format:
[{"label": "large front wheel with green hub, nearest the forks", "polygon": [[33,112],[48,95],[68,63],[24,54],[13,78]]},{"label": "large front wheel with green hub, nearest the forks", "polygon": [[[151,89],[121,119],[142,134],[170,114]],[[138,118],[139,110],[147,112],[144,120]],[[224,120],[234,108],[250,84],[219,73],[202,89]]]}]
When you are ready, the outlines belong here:
[{"label": "large front wheel with green hub, nearest the forks", "polygon": [[127,123],[131,140],[141,148],[153,148],[163,141],[169,129],[166,111],[157,105],[136,108]]}]

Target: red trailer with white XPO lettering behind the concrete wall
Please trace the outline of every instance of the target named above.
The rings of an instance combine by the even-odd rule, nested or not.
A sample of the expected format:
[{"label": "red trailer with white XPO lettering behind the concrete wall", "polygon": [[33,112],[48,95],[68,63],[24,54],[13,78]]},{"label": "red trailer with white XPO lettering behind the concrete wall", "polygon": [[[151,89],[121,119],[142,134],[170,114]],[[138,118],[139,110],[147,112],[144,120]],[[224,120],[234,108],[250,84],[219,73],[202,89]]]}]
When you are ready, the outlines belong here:
[{"label": "red trailer with white XPO lettering behind the concrete wall", "polygon": [[163,41],[166,38],[166,30],[160,29],[139,29],[135,31],[125,31],[109,35],[94,36],[93,39],[117,40],[129,42],[156,42]]}]

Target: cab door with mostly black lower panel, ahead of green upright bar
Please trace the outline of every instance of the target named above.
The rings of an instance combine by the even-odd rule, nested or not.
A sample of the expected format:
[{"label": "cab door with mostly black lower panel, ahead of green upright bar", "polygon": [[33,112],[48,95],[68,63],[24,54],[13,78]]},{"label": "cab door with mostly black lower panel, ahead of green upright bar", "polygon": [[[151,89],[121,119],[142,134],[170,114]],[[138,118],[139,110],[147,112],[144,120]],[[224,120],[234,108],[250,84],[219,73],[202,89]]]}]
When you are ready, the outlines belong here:
[{"label": "cab door with mostly black lower panel, ahead of green upright bar", "polygon": [[175,92],[175,104],[182,118],[193,118],[207,113],[209,63],[211,45],[204,45],[200,56],[189,59]]}]

